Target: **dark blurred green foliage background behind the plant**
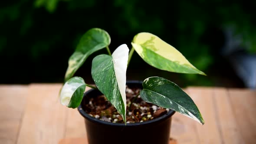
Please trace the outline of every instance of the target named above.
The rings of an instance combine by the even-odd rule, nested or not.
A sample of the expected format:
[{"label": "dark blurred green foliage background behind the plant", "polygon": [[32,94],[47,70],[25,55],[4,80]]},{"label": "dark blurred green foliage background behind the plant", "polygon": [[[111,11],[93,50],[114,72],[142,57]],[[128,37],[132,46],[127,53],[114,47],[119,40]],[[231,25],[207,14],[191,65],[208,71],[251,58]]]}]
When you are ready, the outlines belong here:
[{"label": "dark blurred green foliage background behind the plant", "polygon": [[[68,59],[87,30],[98,27],[111,36],[110,50],[149,32],[178,49],[207,76],[152,68],[135,52],[128,80],[162,76],[178,85],[244,87],[228,55],[230,39],[239,36],[243,52],[256,53],[256,1],[237,0],[1,0],[0,83],[63,82]],[[232,38],[231,38],[232,39]],[[236,41],[235,41],[236,42]],[[93,83],[95,52],[75,75]]]}]

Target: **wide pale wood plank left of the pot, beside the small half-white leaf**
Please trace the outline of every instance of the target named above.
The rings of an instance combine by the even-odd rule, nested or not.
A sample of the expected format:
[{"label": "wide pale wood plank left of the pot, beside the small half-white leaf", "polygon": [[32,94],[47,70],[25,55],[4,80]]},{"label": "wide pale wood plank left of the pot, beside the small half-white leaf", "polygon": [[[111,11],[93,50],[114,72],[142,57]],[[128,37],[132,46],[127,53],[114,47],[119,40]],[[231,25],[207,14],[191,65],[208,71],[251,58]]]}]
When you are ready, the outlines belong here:
[{"label": "wide pale wood plank left of the pot, beside the small half-white leaf", "polygon": [[57,144],[65,135],[66,110],[59,103],[61,84],[32,84],[18,144]]}]

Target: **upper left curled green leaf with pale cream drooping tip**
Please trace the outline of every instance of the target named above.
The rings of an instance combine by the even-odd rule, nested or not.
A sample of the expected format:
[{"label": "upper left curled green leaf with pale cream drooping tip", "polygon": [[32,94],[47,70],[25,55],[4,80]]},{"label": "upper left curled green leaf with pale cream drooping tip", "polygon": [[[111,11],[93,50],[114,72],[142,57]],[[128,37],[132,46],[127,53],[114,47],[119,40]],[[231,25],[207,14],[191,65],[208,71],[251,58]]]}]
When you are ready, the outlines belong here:
[{"label": "upper left curled green leaf with pale cream drooping tip", "polygon": [[105,48],[110,44],[110,36],[103,29],[88,30],[80,39],[75,52],[69,58],[69,66],[65,74],[65,82],[70,79],[85,60],[93,52]]}]

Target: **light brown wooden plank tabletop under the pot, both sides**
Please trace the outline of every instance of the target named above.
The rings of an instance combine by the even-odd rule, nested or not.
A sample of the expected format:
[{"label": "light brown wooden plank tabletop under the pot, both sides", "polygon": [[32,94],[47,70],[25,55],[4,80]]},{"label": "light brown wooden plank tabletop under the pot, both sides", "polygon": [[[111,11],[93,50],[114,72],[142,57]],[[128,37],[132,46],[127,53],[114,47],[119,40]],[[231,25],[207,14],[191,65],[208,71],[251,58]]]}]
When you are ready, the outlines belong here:
[{"label": "light brown wooden plank tabletop under the pot, both sides", "polygon": [[[60,88],[61,84],[0,85],[0,144],[58,144],[66,137],[86,138],[77,109],[59,103]],[[205,124],[176,113],[171,137],[178,144],[256,144],[256,91],[184,90],[197,104]]]}]

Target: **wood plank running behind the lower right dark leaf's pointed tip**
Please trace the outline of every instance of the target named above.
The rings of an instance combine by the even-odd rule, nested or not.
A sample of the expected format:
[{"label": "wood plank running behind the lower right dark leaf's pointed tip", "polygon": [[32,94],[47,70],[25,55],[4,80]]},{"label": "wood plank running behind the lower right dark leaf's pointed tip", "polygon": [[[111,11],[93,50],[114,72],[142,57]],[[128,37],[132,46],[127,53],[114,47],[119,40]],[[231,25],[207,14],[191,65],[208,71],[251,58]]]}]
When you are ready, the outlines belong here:
[{"label": "wood plank running behind the lower right dark leaf's pointed tip", "polygon": [[206,87],[188,88],[190,97],[200,110],[205,124],[202,126],[197,123],[197,133],[199,135],[198,144],[222,144],[223,139],[220,135],[219,123],[215,102],[213,101],[213,89]]}]

